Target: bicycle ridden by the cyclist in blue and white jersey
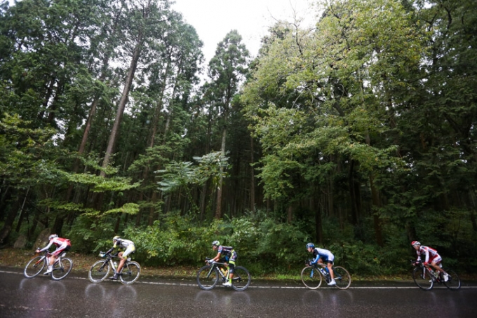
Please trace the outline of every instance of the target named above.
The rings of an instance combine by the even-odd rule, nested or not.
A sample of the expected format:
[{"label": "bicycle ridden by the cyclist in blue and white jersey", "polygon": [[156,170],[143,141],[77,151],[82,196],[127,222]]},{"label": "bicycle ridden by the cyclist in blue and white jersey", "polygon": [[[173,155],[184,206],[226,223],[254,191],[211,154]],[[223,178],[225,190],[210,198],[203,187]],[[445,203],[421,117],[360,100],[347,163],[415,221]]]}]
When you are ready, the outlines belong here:
[{"label": "bicycle ridden by the cyclist in blue and white jersey", "polygon": [[[314,263],[310,265],[311,260],[305,261],[305,268],[302,270],[302,274],[300,275],[302,278],[302,282],[304,286],[308,289],[318,289],[321,286],[321,282],[323,281],[323,277],[325,282],[331,282],[330,272],[328,268],[326,268],[325,264]],[[318,268],[318,265],[321,268]],[[335,286],[337,289],[348,289],[351,285],[351,276],[349,272],[342,268],[341,266],[333,266],[333,272],[335,273]]]}]

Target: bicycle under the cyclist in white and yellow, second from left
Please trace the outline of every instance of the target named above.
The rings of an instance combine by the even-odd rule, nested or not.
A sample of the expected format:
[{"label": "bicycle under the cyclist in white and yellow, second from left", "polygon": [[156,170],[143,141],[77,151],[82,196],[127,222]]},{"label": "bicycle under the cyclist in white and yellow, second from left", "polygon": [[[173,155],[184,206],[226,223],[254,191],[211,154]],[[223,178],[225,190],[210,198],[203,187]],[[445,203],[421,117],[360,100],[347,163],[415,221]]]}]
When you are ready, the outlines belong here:
[{"label": "bicycle under the cyclist in white and yellow, second from left", "polygon": [[[100,257],[105,257],[100,261],[96,261],[88,272],[88,278],[92,283],[99,283],[106,279],[109,275],[109,270],[113,269],[113,273],[116,273],[117,264],[113,261],[113,258],[120,258],[116,255],[105,254],[104,251],[100,251]],[[124,267],[119,272],[119,280],[125,285],[133,284],[141,273],[141,266],[135,261],[131,261],[131,258],[126,259]]]}]

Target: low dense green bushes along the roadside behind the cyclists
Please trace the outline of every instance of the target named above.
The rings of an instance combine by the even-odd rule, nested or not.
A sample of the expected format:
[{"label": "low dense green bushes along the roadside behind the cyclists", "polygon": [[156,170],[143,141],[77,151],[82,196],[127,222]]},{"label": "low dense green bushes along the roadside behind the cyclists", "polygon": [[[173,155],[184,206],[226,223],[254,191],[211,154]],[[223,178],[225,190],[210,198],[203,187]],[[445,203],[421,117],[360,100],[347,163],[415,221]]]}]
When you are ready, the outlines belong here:
[{"label": "low dense green bushes along the roadside behind the cyclists", "polygon": [[[350,225],[340,229],[335,219],[323,217],[323,221],[323,236],[326,239],[323,244],[316,245],[330,249],[335,254],[335,262],[353,274],[403,274],[409,270],[410,258],[415,258],[415,251],[410,247],[405,231],[396,225],[389,223],[384,226],[387,229],[386,244],[378,247],[365,240],[356,240],[356,229]],[[433,226],[432,220],[428,221],[428,225]],[[363,237],[372,237],[372,226],[368,226],[367,222],[371,223],[372,220],[363,220],[358,232],[363,235],[364,231]],[[77,249],[89,247],[88,251],[105,250],[111,247],[112,236],[119,234],[136,243],[137,260],[152,266],[199,266],[206,257],[215,256],[210,243],[219,240],[221,244],[233,246],[238,252],[237,263],[256,274],[296,274],[303,267],[304,261],[311,257],[305,244],[314,241],[304,230],[309,228],[307,222],[281,223],[260,213],[231,220],[215,220],[206,225],[198,225],[187,216],[170,213],[161,221],[156,221],[154,226],[127,227],[123,233],[113,233],[110,228],[102,228],[100,224],[91,226],[89,231],[85,228],[85,223],[81,223],[68,233],[76,241]],[[445,264],[460,270],[471,270],[471,264],[476,262],[475,254],[469,254],[475,249],[470,241],[471,231],[466,231],[468,235],[459,235],[459,242],[466,242],[468,248],[458,247],[452,251],[446,248],[450,242],[438,241],[438,237],[447,233],[445,230],[441,234],[420,228],[418,230],[422,235],[419,240],[423,244],[429,242],[429,246],[441,251]],[[81,244],[81,237],[88,237],[88,240]],[[457,258],[465,260],[468,266],[460,266]]]}]

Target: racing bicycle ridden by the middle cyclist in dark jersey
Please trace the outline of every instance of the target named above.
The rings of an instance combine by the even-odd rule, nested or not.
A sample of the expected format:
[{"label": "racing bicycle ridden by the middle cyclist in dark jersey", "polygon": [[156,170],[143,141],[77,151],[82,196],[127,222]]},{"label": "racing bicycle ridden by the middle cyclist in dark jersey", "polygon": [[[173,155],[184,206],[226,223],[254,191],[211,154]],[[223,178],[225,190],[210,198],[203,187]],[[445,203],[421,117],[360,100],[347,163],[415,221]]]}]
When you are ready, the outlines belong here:
[{"label": "racing bicycle ridden by the middle cyclist in dark jersey", "polygon": [[[210,258],[206,258],[207,261]],[[219,282],[219,279],[222,282],[227,282],[229,279],[229,268],[225,263],[214,262],[208,265],[203,266],[197,272],[197,284],[199,287],[205,291],[210,291],[215,285]],[[243,266],[235,266],[234,269],[234,278],[232,278],[232,289],[236,291],[244,291],[250,286],[250,272]]]}]

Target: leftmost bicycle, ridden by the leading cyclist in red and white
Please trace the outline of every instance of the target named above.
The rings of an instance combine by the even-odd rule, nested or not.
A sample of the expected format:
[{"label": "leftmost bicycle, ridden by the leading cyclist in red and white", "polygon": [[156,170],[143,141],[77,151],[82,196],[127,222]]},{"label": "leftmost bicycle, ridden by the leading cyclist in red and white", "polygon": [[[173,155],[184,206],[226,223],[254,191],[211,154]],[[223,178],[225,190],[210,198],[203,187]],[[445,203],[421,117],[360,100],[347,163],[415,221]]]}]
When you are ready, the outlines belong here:
[{"label": "leftmost bicycle, ridden by the leading cyclist in red and white", "polygon": [[[43,256],[35,256],[32,258],[27,265],[25,266],[25,270],[23,270],[23,275],[27,278],[33,278],[45,268],[48,268],[48,263],[50,260],[51,254],[49,251],[44,251]],[[73,268],[73,261],[69,258],[65,258],[66,251],[63,251],[58,259],[53,263],[53,272],[51,272],[51,278],[53,280],[60,280],[69,274]]]}]

